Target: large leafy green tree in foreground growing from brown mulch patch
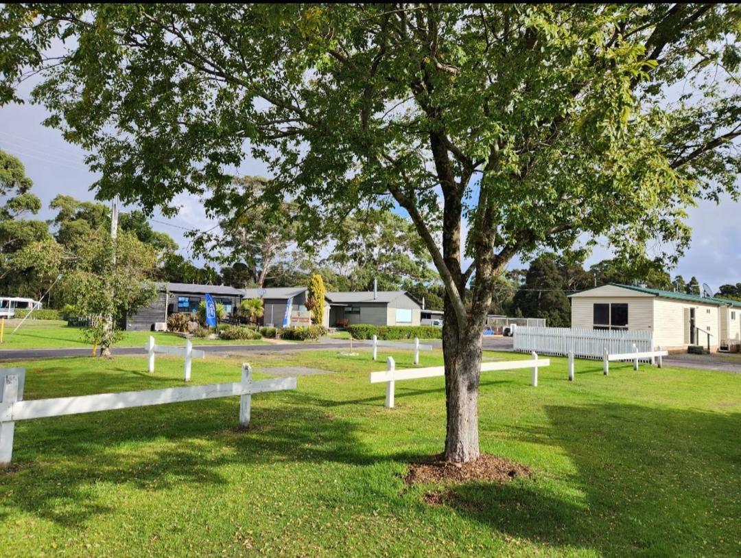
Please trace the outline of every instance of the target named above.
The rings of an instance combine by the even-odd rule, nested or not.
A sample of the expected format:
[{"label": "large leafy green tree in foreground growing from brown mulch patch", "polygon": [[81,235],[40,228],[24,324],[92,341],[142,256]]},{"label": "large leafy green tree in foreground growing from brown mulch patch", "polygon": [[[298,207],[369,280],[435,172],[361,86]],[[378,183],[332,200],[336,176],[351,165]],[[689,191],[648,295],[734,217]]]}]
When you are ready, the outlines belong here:
[{"label": "large leafy green tree in foreground growing from brown mulch patch", "polygon": [[104,199],[247,205],[229,169],[251,155],[273,175],[261,202],[299,204],[299,241],[402,207],[445,284],[461,462],[512,257],[601,237],[671,260],[684,207],[736,196],[739,21],[731,4],[4,4],[0,102],[40,76],[32,98],[91,150]]}]

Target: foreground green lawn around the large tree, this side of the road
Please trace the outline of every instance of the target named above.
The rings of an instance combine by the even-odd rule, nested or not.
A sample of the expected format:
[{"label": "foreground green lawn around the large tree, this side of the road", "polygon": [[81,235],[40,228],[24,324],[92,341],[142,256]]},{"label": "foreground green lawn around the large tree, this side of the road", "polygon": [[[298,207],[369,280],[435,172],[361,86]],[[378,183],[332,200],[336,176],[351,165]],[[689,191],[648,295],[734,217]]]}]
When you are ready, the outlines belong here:
[{"label": "foreground green lawn around the large tree, this side of the road", "polygon": [[[441,451],[442,378],[396,383],[367,352],[250,355],[301,365],[298,389],[16,423],[18,471],[0,474],[2,556],[579,556],[741,554],[741,376],[564,359],[482,374],[482,450],[531,479],[405,487]],[[392,353],[397,368],[411,352]],[[527,358],[525,355],[496,355]],[[422,353],[420,365],[441,362]],[[13,366],[23,364],[13,363]],[[27,362],[25,399],[182,385],[182,359]],[[239,361],[193,362],[193,382],[239,379]],[[257,375],[259,376],[259,374]]]}]

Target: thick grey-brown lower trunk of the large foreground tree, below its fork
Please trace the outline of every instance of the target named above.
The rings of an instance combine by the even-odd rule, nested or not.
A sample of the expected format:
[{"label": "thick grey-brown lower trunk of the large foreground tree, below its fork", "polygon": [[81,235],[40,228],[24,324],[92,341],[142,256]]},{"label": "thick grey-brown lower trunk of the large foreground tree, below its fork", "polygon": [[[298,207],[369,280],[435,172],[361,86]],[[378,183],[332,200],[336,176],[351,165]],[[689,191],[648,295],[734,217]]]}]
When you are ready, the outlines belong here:
[{"label": "thick grey-brown lower trunk of the large foreground tree, below its fork", "polygon": [[481,332],[459,336],[457,324],[445,320],[442,352],[445,357],[447,432],[445,460],[473,461],[479,456],[479,376]]}]

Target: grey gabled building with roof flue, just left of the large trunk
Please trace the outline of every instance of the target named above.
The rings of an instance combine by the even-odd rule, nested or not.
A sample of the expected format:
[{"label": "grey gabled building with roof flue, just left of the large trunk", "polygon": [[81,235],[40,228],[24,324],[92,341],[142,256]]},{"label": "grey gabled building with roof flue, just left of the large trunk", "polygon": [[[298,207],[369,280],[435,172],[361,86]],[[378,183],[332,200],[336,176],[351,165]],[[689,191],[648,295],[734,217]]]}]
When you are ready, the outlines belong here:
[{"label": "grey gabled building with roof flue, just left of the large trunk", "polygon": [[327,293],[331,328],[354,324],[419,325],[422,305],[404,290]]}]

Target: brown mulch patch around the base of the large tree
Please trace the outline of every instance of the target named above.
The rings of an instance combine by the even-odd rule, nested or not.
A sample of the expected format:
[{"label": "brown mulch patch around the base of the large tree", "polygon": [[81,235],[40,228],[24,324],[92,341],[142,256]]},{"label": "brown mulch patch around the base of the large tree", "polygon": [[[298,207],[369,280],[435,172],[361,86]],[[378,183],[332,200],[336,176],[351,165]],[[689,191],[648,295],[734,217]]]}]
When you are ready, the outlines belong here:
[{"label": "brown mulch patch around the base of the large tree", "polygon": [[525,465],[520,465],[505,457],[482,454],[476,461],[451,463],[444,461],[442,455],[438,455],[423,462],[411,463],[408,473],[404,476],[404,483],[416,485],[429,482],[451,484],[471,481],[508,482],[518,476],[531,475],[532,471]]}]

